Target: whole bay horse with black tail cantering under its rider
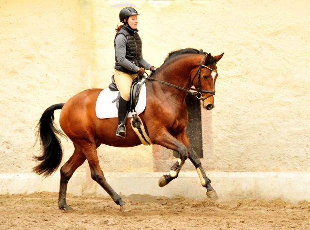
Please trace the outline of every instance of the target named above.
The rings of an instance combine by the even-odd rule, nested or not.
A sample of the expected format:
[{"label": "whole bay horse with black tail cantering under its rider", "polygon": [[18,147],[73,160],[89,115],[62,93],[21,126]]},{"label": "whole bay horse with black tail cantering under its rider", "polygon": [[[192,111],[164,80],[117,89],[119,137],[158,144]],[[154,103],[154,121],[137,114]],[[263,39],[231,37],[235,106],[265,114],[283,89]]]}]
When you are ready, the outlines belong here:
[{"label": "whole bay horse with black tail cantering under its rider", "polygon": [[[172,51],[164,63],[145,82],[146,107],[139,115],[145,131],[153,144],[179,153],[179,159],[172,166],[169,175],[163,175],[159,179],[160,187],[177,178],[185,160],[189,158],[197,169],[202,186],[207,189],[207,197],[218,199],[197,153],[186,136],[185,128],[188,118],[185,98],[188,93],[191,93],[201,100],[203,108],[210,110],[216,106],[214,94],[218,76],[217,62],[223,55],[224,53],[213,57],[210,53],[193,48]],[[198,92],[193,93],[191,91],[193,89],[190,88],[192,86],[198,89]],[[58,136],[65,134],[74,145],[74,153],[60,170],[58,200],[60,209],[72,209],[66,202],[67,184],[74,171],[87,159],[92,179],[107,191],[117,205],[120,205],[120,212],[132,210],[129,204],[126,204],[107,183],[100,168],[96,149],[101,144],[133,147],[140,145],[141,142],[133,129],[129,128],[125,139],[121,140],[116,137],[117,118],[97,118],[96,99],[102,90],[85,90],[71,97],[66,103],[48,107],[37,124],[36,136],[40,140],[42,152],[39,156],[34,156],[39,164],[32,169],[33,172],[47,177],[58,169],[63,155],[62,144]],[[56,109],[62,109],[59,123],[63,132],[53,123]],[[126,126],[130,127],[129,119],[126,121]]]}]

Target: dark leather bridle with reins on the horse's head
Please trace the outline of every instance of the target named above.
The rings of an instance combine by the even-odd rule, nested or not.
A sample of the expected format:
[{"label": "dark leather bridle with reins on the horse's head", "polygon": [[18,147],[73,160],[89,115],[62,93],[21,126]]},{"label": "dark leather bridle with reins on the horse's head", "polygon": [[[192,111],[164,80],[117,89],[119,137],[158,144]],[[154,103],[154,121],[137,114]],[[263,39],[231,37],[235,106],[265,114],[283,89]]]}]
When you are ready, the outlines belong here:
[{"label": "dark leather bridle with reins on the horse's head", "polygon": [[[186,90],[186,89],[181,88],[181,87],[179,87],[179,86],[172,85],[172,84],[170,84],[170,83],[168,83],[168,82],[161,81],[161,80],[157,80],[157,79],[154,79],[154,78],[150,78],[150,77],[152,77],[153,73],[152,73],[150,76],[146,77],[145,79],[146,79],[146,80],[157,81],[157,82],[160,82],[160,83],[162,83],[162,84],[165,84],[165,85],[174,87],[174,88],[176,88],[176,89],[178,89],[178,90],[185,91],[187,94],[196,96],[198,99],[204,101],[205,99],[214,96],[214,95],[215,95],[215,91],[208,91],[208,90],[201,90],[201,89],[200,89],[200,88],[201,88],[201,86],[200,86],[200,81],[201,81],[201,69],[202,69],[202,68],[207,68],[207,69],[209,69],[209,70],[211,70],[211,71],[216,71],[216,70],[217,70],[217,69],[215,69],[215,70],[214,70],[214,69],[211,69],[211,68],[209,68],[208,66],[205,66],[205,65],[202,64],[202,61],[203,61],[203,59],[204,59],[205,57],[206,57],[206,55],[204,55],[204,56],[202,57],[202,60],[200,61],[200,64],[199,64],[199,68],[198,68],[198,70],[197,70],[197,72],[196,72],[195,76],[193,77],[193,80],[192,80],[192,82],[191,82],[191,84],[190,84],[190,85],[193,85],[193,82],[194,82],[194,80],[195,80],[195,77],[198,75],[198,87],[197,87],[197,88],[198,88],[198,91],[196,91],[196,89],[192,89],[192,88]],[[144,82],[145,82],[145,81],[144,81]],[[143,83],[144,83],[144,82],[143,82]],[[143,83],[142,83],[142,84],[143,84]],[[196,92],[191,92],[190,90],[194,90],[194,91],[196,91]],[[207,96],[207,97],[202,97],[202,93],[210,93],[210,95]]]}]

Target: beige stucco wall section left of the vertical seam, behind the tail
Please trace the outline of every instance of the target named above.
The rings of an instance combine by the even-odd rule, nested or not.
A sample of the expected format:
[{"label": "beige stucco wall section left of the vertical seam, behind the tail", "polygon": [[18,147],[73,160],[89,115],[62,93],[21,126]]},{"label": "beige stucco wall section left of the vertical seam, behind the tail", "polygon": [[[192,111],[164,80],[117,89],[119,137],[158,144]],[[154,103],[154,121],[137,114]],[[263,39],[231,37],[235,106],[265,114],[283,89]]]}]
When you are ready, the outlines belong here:
[{"label": "beige stucco wall section left of the vertical seam, behind the tail", "polygon": [[[84,10],[76,0],[0,0],[1,173],[30,172],[42,112],[87,88]],[[67,159],[72,143],[62,143]]]}]

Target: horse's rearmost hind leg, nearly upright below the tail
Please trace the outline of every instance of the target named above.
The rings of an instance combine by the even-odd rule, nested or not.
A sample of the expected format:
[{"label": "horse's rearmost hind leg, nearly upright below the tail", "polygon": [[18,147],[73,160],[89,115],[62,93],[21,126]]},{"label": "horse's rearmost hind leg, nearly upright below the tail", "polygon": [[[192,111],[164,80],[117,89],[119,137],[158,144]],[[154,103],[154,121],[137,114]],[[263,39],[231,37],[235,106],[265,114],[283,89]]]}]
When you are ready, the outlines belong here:
[{"label": "horse's rearmost hind leg, nearly upright below the tail", "polygon": [[75,150],[70,159],[62,166],[60,169],[60,188],[59,188],[59,199],[58,207],[63,210],[72,209],[67,205],[66,194],[67,194],[67,184],[72,177],[74,171],[80,167],[85,161],[86,157],[80,149],[75,146]]}]

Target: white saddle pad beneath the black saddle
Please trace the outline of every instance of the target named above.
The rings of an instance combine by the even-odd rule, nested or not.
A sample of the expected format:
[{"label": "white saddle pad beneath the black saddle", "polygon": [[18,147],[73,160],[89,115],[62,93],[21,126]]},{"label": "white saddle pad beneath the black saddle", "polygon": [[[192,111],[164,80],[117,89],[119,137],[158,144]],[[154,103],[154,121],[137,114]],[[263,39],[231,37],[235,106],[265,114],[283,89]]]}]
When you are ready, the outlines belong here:
[{"label": "white saddle pad beneath the black saddle", "polygon": [[[118,91],[110,91],[109,88],[101,91],[96,102],[96,115],[100,119],[118,117],[116,102],[112,101],[117,97]],[[136,113],[139,115],[145,109],[146,105],[146,88],[145,84],[142,85],[142,89],[139,96],[139,101],[136,106]],[[129,112],[128,117],[132,117],[132,113]]]}]

